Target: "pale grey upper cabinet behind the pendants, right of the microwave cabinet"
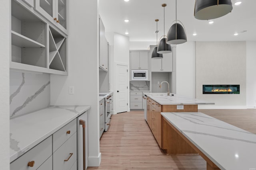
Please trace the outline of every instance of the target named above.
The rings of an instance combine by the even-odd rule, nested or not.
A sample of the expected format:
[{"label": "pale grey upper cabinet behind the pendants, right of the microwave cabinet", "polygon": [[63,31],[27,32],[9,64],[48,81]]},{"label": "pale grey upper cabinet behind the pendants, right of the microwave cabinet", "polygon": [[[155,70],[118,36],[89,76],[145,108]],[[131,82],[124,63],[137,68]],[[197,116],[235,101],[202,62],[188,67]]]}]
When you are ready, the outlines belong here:
[{"label": "pale grey upper cabinet behind the pendants, right of the microwave cabinet", "polygon": [[172,72],[172,53],[163,54],[162,59],[151,59],[151,72]]}]

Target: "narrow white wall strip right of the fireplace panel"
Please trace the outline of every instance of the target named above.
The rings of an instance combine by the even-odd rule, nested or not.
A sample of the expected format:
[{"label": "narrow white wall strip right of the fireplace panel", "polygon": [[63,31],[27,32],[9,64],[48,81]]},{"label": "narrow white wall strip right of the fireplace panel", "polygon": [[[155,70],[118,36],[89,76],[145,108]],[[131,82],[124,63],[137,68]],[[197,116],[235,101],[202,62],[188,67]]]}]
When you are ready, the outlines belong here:
[{"label": "narrow white wall strip right of the fireplace panel", "polygon": [[256,41],[246,41],[246,105],[256,107]]}]

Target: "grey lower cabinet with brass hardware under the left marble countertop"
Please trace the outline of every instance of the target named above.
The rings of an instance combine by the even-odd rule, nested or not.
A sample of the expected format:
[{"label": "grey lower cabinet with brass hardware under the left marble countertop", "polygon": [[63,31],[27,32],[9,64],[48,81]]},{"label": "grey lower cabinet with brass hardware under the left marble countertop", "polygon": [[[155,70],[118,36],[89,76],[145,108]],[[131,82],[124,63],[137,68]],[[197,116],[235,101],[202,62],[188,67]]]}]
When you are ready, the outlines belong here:
[{"label": "grey lower cabinet with brass hardware under the left marble countertop", "polygon": [[77,119],[74,119],[10,163],[10,170],[77,170],[77,139]]}]

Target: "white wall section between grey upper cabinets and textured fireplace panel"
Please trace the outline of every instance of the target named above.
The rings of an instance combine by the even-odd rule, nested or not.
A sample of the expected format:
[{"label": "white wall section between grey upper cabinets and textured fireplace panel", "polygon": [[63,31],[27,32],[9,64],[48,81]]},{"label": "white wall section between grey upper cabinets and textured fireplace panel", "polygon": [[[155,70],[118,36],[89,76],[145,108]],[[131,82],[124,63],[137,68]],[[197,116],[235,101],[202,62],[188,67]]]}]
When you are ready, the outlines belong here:
[{"label": "white wall section between grey upper cabinets and textured fireplace panel", "polygon": [[196,97],[195,42],[176,45],[176,94]]}]

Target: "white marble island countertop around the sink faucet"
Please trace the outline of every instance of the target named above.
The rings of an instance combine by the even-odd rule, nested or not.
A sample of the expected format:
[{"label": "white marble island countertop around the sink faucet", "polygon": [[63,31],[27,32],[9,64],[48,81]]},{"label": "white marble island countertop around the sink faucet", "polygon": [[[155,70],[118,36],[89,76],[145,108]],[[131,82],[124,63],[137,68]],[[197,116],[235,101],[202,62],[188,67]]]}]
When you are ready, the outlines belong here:
[{"label": "white marble island countertop around the sink faucet", "polygon": [[213,102],[207,102],[204,100],[189,98],[186,96],[180,96],[176,94],[170,94],[170,96],[167,96],[167,93],[147,93],[145,95],[161,105],[214,104]]}]

